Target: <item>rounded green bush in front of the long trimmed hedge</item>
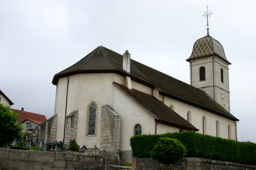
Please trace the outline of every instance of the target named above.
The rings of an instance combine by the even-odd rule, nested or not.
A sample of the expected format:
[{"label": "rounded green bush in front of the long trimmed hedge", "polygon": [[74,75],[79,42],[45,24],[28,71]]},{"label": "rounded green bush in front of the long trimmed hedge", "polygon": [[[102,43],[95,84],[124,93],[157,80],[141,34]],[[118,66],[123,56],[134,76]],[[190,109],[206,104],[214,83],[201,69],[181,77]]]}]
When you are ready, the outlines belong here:
[{"label": "rounded green bush in front of the long trimmed hedge", "polygon": [[186,155],[187,149],[177,139],[168,137],[159,138],[159,141],[151,151],[151,157],[158,162],[165,164],[177,163]]}]

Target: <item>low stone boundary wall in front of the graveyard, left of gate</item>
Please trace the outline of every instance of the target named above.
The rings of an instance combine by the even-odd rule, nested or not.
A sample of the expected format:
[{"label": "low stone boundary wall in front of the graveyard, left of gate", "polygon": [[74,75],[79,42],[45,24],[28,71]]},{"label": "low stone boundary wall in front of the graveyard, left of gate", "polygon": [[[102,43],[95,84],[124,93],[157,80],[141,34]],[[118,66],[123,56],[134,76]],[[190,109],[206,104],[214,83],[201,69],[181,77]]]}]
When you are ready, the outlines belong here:
[{"label": "low stone boundary wall in front of the graveyard, left of gate", "polygon": [[93,169],[107,170],[102,154],[79,152],[47,152],[0,148],[0,169]]}]

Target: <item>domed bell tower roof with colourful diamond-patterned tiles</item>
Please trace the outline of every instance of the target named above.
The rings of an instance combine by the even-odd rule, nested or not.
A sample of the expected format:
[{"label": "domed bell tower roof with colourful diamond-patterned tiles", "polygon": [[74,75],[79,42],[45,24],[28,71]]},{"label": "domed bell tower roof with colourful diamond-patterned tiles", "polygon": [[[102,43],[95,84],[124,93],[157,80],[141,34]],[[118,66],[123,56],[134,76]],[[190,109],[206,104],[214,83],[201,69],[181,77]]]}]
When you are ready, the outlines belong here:
[{"label": "domed bell tower roof with colourful diamond-patterned tiles", "polygon": [[218,55],[223,60],[228,62],[224,53],[223,46],[211,36],[206,35],[205,37],[199,38],[195,41],[192,49],[192,54],[190,58],[187,59],[187,61],[210,55]]}]

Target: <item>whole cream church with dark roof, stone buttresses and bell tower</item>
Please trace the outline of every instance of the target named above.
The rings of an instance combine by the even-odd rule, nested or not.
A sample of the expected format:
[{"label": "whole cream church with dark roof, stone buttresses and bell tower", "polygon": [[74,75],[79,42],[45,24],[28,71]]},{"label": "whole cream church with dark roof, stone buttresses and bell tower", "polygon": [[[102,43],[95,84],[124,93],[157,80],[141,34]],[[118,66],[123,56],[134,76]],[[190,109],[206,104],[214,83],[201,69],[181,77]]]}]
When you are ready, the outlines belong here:
[{"label": "whole cream church with dark roof, stone buttresses and bell tower", "polygon": [[55,74],[55,114],[41,124],[39,139],[120,150],[124,162],[131,162],[134,135],[193,130],[237,140],[231,63],[217,40],[206,35],[195,41],[186,60],[190,85],[131,58],[128,50],[121,55],[99,46]]}]

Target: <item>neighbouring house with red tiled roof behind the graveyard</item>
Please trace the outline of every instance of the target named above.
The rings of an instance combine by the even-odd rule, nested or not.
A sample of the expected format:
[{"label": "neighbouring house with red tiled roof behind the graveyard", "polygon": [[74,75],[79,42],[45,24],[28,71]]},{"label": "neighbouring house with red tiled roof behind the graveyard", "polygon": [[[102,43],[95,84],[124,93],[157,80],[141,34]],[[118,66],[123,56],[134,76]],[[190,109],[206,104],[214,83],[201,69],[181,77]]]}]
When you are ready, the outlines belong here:
[{"label": "neighbouring house with red tiled roof behind the graveyard", "polygon": [[15,112],[19,115],[18,122],[23,126],[22,133],[26,133],[26,136],[31,136],[38,138],[40,124],[46,121],[45,115],[31,113],[24,111],[24,108],[21,110],[12,109],[12,112]]}]

